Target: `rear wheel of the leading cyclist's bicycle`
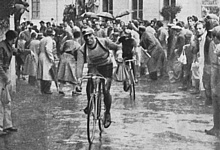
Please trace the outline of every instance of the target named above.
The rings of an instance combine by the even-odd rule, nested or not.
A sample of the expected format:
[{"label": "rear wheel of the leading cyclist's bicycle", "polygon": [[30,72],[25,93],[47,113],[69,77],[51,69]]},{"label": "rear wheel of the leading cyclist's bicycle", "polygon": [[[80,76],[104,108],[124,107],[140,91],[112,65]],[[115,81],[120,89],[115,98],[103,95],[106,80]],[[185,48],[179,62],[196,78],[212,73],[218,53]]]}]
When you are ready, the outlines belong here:
[{"label": "rear wheel of the leading cyclist's bicycle", "polygon": [[103,83],[101,82],[100,85],[99,85],[99,92],[98,92],[98,108],[97,108],[97,116],[98,116],[98,120],[99,120],[99,130],[102,132],[104,130],[104,115],[101,114],[102,112],[102,100],[104,98],[103,96]]}]

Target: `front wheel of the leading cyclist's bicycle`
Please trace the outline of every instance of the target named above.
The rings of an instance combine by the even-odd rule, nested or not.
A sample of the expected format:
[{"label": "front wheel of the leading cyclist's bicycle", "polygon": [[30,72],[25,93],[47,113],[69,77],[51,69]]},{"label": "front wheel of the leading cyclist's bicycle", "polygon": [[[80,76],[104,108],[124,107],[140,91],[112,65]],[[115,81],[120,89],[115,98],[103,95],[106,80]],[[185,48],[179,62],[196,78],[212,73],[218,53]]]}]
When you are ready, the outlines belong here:
[{"label": "front wheel of the leading cyclist's bicycle", "polygon": [[[95,94],[93,94],[90,98],[88,115],[87,115],[87,137],[88,141],[91,144],[95,137],[95,129],[96,129],[96,108],[95,108]],[[91,121],[91,122],[90,122]]]}]

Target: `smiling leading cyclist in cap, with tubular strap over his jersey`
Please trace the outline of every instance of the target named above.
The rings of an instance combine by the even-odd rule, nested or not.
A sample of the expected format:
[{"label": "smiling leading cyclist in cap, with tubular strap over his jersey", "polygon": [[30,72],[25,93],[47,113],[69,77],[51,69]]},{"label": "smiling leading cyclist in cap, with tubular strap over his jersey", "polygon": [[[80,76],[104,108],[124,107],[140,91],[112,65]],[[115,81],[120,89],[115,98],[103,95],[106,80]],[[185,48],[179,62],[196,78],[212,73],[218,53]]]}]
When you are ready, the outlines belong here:
[{"label": "smiling leading cyclist in cap, with tubular strap over his jersey", "polygon": [[[104,113],[104,127],[108,128],[111,125],[111,103],[112,97],[110,94],[113,63],[109,50],[113,50],[116,53],[117,61],[122,62],[122,50],[121,46],[113,43],[108,38],[97,38],[94,35],[92,28],[82,29],[82,35],[85,40],[85,44],[81,47],[77,54],[77,77],[81,82],[84,63],[88,63],[88,73],[101,74],[107,78],[104,89],[104,104],[106,111]],[[86,86],[87,93],[87,107],[84,112],[88,113],[88,105],[91,91],[91,80],[88,80]]]}]

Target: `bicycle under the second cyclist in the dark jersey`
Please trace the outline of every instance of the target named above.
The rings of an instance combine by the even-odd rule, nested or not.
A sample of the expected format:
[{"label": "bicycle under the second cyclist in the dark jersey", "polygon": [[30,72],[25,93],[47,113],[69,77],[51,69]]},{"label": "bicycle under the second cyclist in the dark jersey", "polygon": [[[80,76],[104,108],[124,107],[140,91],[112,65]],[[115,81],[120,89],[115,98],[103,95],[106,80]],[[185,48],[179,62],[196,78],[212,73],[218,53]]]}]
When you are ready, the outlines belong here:
[{"label": "bicycle under the second cyclist in the dark jersey", "polygon": [[[128,77],[128,82],[129,82],[129,90],[130,90],[130,98],[135,100],[135,77],[134,77],[134,71],[132,68],[132,62],[136,61],[136,59],[128,59],[124,60],[124,62],[128,62],[128,67],[126,67],[129,77]],[[127,66],[127,65],[126,65]]]}]

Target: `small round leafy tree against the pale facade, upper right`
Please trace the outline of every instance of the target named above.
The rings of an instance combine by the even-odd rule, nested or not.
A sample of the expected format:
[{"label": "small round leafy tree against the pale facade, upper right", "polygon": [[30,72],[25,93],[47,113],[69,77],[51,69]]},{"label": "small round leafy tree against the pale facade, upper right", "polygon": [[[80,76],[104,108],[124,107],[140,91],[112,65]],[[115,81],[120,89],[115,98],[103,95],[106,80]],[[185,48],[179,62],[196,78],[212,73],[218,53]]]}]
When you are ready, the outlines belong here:
[{"label": "small round leafy tree against the pale facade, upper right", "polygon": [[160,15],[164,17],[165,20],[173,20],[176,14],[180,13],[181,6],[164,6],[160,12]]}]

